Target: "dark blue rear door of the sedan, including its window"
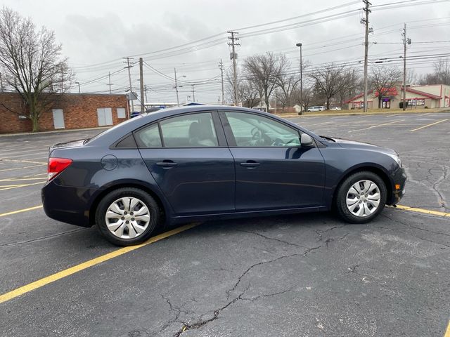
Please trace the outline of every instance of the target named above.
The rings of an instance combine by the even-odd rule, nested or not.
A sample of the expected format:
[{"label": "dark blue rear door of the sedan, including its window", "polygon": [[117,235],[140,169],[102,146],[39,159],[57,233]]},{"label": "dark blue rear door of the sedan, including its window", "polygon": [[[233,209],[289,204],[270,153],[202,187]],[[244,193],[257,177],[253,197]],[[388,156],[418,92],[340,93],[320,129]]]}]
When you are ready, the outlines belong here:
[{"label": "dark blue rear door of the sedan, including its window", "polygon": [[234,161],[217,112],[169,117],[134,136],[177,215],[234,211]]}]

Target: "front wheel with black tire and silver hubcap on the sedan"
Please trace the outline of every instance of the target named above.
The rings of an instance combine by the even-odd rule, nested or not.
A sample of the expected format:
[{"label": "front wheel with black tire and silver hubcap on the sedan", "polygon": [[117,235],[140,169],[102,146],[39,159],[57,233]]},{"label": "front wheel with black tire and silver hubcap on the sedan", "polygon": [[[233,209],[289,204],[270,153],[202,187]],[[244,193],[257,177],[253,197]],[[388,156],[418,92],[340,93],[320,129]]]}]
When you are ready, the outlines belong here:
[{"label": "front wheel with black tire and silver hubcap on the sedan", "polygon": [[347,177],[336,193],[336,211],[347,223],[368,223],[386,204],[387,190],[383,179],[370,171]]}]

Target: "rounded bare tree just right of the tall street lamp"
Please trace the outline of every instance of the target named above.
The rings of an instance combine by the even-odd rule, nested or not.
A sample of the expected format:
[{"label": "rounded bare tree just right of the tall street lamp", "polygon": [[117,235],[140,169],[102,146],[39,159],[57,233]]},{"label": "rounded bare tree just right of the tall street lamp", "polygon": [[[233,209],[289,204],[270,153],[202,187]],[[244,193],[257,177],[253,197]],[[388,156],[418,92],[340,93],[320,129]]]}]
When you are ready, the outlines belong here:
[{"label": "rounded bare tree just right of the tall street lamp", "polygon": [[314,81],[313,91],[316,98],[323,98],[327,109],[330,109],[331,98],[346,88],[346,72],[344,66],[336,66],[330,63],[321,68],[316,68],[309,74],[309,77]]}]

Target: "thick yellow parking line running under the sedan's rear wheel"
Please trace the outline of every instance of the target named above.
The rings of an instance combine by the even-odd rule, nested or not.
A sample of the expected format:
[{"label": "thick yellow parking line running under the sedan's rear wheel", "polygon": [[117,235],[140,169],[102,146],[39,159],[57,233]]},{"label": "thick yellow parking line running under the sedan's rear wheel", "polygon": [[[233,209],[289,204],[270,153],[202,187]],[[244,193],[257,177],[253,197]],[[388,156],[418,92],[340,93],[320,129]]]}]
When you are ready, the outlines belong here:
[{"label": "thick yellow parking line running under the sedan's rear wheel", "polygon": [[7,300],[11,300],[20,295],[23,295],[24,293],[28,293],[35,289],[41,288],[41,286],[45,286],[46,284],[50,284],[52,282],[58,281],[58,279],[63,279],[64,277],[68,277],[69,275],[75,274],[76,272],[80,272],[89,267],[93,267],[94,265],[98,265],[99,263],[103,263],[112,258],[117,258],[117,256],[121,256],[124,253],[129,253],[130,251],[134,251],[143,246],[147,246],[148,244],[153,244],[154,242],[158,242],[167,237],[171,237],[172,235],[179,234],[179,233],[184,232],[185,230],[189,230],[197,225],[200,225],[200,223],[191,223],[188,225],[184,225],[184,226],[175,228],[174,230],[169,230],[168,232],[159,234],[155,237],[148,239],[146,242],[143,242],[142,244],[117,249],[117,250],[107,253],[105,255],[98,256],[98,258],[93,258],[92,260],[86,261],[84,263],[80,263],[79,265],[74,265],[73,267],[70,267],[68,269],[61,270],[60,272],[56,272],[53,275],[44,277],[43,279],[38,279],[37,281],[34,281],[30,284],[21,286],[18,289],[14,289],[13,291],[9,291],[8,293],[4,293],[3,295],[0,295],[0,303],[4,303]]}]

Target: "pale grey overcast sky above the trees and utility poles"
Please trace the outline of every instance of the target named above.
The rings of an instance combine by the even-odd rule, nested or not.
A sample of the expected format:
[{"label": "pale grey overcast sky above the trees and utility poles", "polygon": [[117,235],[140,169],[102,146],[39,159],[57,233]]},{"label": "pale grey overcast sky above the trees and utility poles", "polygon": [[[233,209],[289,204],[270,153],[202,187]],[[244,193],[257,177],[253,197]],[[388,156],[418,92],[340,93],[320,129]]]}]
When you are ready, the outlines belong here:
[{"label": "pale grey overcast sky above the trees and utility poles", "polygon": [[[373,0],[372,3],[373,6],[378,6],[400,1],[405,0]],[[179,89],[181,103],[192,100],[191,84],[196,84],[196,101],[217,103],[221,95],[218,66],[221,58],[225,69],[231,71],[226,39],[226,31],[231,29],[239,32],[238,36],[242,37],[239,41],[241,46],[238,48],[238,63],[243,62],[248,55],[274,51],[285,53],[292,63],[292,68],[297,69],[297,42],[302,42],[304,60],[309,61],[311,67],[318,67],[325,62],[358,62],[364,59],[364,25],[359,22],[364,13],[360,10],[363,7],[362,1],[3,2],[20,15],[32,18],[37,26],[44,25],[56,33],[56,39],[63,44],[63,55],[69,58],[77,81],[81,83],[82,92],[108,92],[108,72],[117,72],[111,77],[113,92],[127,91],[128,74],[127,70],[123,70],[122,58],[134,55],[132,62],[136,62],[139,55],[144,54],[141,56],[146,62],[143,72],[149,101],[176,102],[176,94],[172,88],[176,67],[179,84],[182,86]],[[417,5],[423,2],[427,4]],[[333,7],[335,9],[323,11]],[[319,11],[321,12],[311,14]],[[333,15],[340,13],[342,17],[333,18]],[[330,16],[332,18],[326,18]],[[300,18],[285,20],[293,17]],[[305,23],[319,18],[323,18],[322,22],[310,22],[314,25],[245,37],[245,34],[250,32]],[[401,6],[397,4],[373,7],[369,20],[374,31],[370,36],[370,60],[398,58],[402,55],[401,30],[404,22],[407,22],[408,37],[412,40],[408,49],[409,55],[448,54],[450,51],[450,1],[409,0]],[[275,21],[280,22],[246,28]],[[196,51],[192,50],[193,45],[189,44],[190,42],[216,34],[216,37],[194,44],[207,45],[197,47]],[[430,41],[437,42],[423,43]],[[158,52],[183,44],[188,45]],[[186,47],[189,49],[184,49]],[[416,63],[411,67],[414,67],[418,74],[430,72],[433,61],[435,60],[411,61]],[[394,62],[386,64],[393,65]],[[156,71],[151,70],[149,66]],[[98,79],[99,77],[105,78]],[[134,91],[139,91],[137,64],[131,68],[131,81]],[[77,87],[73,89],[74,92],[77,90]],[[188,98],[188,95],[191,97]]]}]

